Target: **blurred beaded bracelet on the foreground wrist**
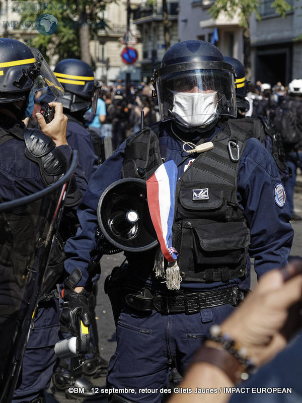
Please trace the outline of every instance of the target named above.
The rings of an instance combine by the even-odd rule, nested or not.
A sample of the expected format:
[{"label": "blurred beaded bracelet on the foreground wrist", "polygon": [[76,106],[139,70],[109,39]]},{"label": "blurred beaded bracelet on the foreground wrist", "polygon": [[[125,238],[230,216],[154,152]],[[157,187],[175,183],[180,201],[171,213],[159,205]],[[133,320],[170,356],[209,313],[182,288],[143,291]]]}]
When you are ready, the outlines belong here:
[{"label": "blurred beaded bracelet on the foreground wrist", "polygon": [[240,347],[227,333],[222,333],[220,326],[215,324],[210,327],[208,340],[220,344],[225,350],[228,350],[245,369],[241,374],[241,379],[246,380],[249,378],[249,373],[255,369],[253,361],[247,355],[247,350]]}]

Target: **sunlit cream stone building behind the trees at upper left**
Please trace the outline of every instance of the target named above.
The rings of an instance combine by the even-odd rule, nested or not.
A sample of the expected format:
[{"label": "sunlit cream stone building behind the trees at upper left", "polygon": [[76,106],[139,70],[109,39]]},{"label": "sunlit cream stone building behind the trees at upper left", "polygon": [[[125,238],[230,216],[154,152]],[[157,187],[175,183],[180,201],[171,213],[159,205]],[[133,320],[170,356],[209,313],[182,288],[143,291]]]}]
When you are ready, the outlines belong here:
[{"label": "sunlit cream stone building behind the trees at upper left", "polygon": [[[51,9],[47,11],[47,5],[51,4],[54,7],[58,5],[64,7],[66,5],[63,2],[43,3],[2,0],[0,2],[0,36],[14,38],[25,43],[28,42],[28,40],[39,34],[35,29],[34,23],[39,16],[41,5],[42,7],[46,7],[46,13],[51,14]],[[139,4],[139,0],[130,0],[131,9],[137,8]],[[26,27],[18,29],[22,13],[28,7],[33,11],[33,16],[31,17],[33,26],[29,27],[29,29]],[[132,15],[133,13],[130,13],[130,29],[138,40],[138,43],[134,47],[138,53],[138,58],[141,58],[140,32],[136,29],[136,25],[132,23]],[[98,30],[97,34],[94,35],[94,39],[90,41],[90,55],[95,64],[97,80],[110,85],[117,79],[125,81],[126,74],[128,73],[130,74],[131,81],[140,82],[140,63],[135,62],[134,64],[127,65],[122,61],[120,55],[125,47],[122,44],[122,39],[127,30],[127,1],[119,0],[117,3],[108,3],[106,9],[102,12],[102,18],[107,23],[106,29]],[[60,59],[60,55],[56,54],[55,47],[51,48],[51,46],[49,46],[48,53],[50,64],[54,67]]]}]

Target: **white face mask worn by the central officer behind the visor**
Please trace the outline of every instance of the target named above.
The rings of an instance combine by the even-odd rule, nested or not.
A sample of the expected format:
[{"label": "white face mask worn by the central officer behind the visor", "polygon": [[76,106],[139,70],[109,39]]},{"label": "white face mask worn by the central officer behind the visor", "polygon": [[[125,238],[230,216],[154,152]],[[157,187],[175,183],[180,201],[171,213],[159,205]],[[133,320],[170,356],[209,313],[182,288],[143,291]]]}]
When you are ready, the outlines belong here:
[{"label": "white face mask worn by the central officer behind the visor", "polygon": [[[171,91],[171,90],[170,90]],[[205,126],[216,116],[217,91],[205,94],[202,92],[177,92],[174,94],[172,113],[182,124],[189,127]]]}]

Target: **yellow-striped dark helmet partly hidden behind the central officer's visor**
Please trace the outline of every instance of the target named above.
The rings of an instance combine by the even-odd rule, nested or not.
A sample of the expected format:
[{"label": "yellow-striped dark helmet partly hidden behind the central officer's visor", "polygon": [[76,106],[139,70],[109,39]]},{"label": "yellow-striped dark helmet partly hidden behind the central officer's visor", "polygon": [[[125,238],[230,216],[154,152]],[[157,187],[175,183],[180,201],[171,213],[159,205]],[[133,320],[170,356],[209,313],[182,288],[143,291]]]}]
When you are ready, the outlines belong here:
[{"label": "yellow-striped dark helmet partly hidden behind the central officer's visor", "polygon": [[234,67],[236,73],[235,90],[237,108],[242,112],[246,112],[249,110],[250,104],[249,101],[245,99],[248,92],[249,82],[245,77],[244,65],[238,59],[231,56],[224,56],[224,61],[232,64]]}]

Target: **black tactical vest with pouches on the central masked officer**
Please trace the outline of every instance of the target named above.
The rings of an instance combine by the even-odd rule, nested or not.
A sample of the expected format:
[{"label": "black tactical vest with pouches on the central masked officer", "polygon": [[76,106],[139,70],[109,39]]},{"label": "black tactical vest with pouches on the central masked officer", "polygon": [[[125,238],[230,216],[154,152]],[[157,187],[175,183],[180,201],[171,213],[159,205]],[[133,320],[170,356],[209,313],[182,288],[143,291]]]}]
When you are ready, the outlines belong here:
[{"label": "black tactical vest with pouches on the central masked officer", "polygon": [[[199,154],[177,182],[172,244],[179,252],[177,263],[183,281],[228,282],[247,274],[250,231],[237,200],[237,172],[245,136],[232,123],[224,123],[212,139],[214,148]],[[124,176],[147,179],[161,159],[156,133],[145,127],[131,138],[129,146]],[[151,150],[157,155],[146,158]]]}]

